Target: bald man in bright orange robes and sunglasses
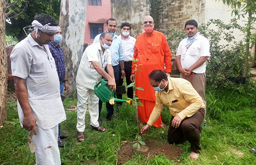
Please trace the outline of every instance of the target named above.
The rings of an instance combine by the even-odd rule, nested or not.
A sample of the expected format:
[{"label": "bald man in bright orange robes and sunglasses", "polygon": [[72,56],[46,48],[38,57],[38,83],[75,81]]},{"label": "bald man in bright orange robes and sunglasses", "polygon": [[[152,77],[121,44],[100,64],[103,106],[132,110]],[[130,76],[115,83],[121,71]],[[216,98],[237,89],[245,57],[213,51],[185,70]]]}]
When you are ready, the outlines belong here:
[{"label": "bald man in bright orange robes and sunglasses", "polygon": [[[135,89],[135,93],[143,104],[143,106],[138,106],[139,119],[146,124],[155,105],[155,91],[151,88],[147,75],[152,70],[160,69],[170,76],[172,54],[165,35],[154,30],[154,19],[151,16],[148,15],[143,19],[142,26],[145,32],[137,37],[133,55],[135,59],[139,59],[136,64],[142,64],[138,68],[142,71],[137,71],[135,74],[135,65],[132,65],[130,78],[132,82],[135,81],[136,87],[144,89],[144,91]],[[155,121],[154,126],[166,128],[161,116]]]}]

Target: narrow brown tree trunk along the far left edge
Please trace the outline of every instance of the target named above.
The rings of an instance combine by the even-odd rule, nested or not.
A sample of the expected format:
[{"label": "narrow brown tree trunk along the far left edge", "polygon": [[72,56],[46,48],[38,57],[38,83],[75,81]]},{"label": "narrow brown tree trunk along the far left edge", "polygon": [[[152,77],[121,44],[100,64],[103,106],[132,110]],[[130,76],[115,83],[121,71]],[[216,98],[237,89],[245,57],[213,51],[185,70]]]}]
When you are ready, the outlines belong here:
[{"label": "narrow brown tree trunk along the far left edge", "polygon": [[0,0],[0,126],[6,121],[7,54],[5,48],[5,3]]}]

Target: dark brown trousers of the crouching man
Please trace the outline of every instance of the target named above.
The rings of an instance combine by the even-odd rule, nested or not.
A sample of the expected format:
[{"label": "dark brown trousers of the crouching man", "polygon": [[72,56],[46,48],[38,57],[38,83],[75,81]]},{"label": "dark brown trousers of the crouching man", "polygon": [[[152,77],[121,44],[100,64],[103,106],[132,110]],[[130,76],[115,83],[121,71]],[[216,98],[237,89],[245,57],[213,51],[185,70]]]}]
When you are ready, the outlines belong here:
[{"label": "dark brown trousers of the crouching man", "polygon": [[200,147],[200,132],[202,131],[201,123],[204,119],[204,109],[200,108],[191,117],[181,121],[178,128],[172,126],[173,117],[168,129],[168,142],[170,144],[180,144],[188,140],[191,145],[192,152],[199,153]]}]

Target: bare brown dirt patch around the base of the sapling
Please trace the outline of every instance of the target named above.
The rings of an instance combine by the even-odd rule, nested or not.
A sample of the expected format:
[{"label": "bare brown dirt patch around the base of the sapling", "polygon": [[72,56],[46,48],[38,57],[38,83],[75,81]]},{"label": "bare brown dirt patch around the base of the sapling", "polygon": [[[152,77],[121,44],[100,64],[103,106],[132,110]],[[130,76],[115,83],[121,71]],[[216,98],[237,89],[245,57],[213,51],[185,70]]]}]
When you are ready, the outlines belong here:
[{"label": "bare brown dirt patch around the base of the sapling", "polygon": [[166,158],[172,160],[175,158],[179,159],[184,152],[183,150],[181,150],[181,147],[173,146],[172,144],[155,145],[155,142],[151,140],[145,141],[145,143],[149,150],[147,152],[140,152],[137,151],[135,148],[132,148],[133,143],[124,142],[122,144],[123,147],[121,147],[120,150],[117,151],[117,154],[119,155],[117,164],[124,164],[128,160],[132,159],[132,156],[136,153],[141,154],[144,157],[147,157],[149,154],[149,159],[154,157],[154,155],[164,154],[166,155]]}]

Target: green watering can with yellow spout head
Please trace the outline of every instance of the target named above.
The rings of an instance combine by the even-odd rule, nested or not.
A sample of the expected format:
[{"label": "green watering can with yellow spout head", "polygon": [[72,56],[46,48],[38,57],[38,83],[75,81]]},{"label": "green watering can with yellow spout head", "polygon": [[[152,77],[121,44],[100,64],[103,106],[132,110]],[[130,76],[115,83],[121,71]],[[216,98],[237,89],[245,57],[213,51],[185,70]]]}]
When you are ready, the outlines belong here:
[{"label": "green watering can with yellow spout head", "polygon": [[113,105],[115,102],[119,103],[128,103],[132,105],[132,100],[122,100],[114,98],[115,90],[112,92],[108,86],[108,81],[106,79],[101,79],[94,86],[94,93],[102,102],[109,102]]}]

